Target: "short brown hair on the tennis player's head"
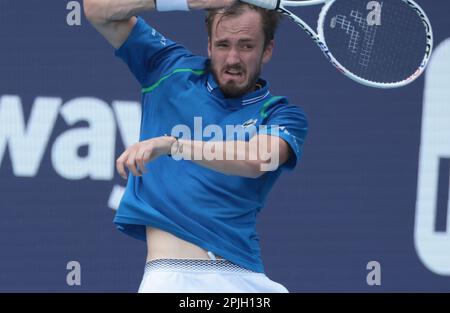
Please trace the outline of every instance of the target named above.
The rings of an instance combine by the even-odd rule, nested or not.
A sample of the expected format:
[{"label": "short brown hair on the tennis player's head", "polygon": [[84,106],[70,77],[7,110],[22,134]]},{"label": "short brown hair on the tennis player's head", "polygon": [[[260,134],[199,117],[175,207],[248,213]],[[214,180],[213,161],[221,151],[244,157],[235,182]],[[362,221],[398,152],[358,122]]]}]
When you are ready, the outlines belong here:
[{"label": "short brown hair on the tennis player's head", "polygon": [[[275,37],[275,31],[277,30],[278,24],[281,20],[281,14],[273,10],[266,10],[255,5],[243,3],[240,1],[225,9],[208,10],[205,18],[205,24],[209,38],[211,38],[212,26],[217,15],[220,15],[220,19],[226,16],[239,16],[244,12],[245,7],[249,7],[250,9],[257,11],[261,15],[264,32],[264,47],[266,47],[269,42]],[[219,23],[220,20],[217,25],[219,25]]]}]

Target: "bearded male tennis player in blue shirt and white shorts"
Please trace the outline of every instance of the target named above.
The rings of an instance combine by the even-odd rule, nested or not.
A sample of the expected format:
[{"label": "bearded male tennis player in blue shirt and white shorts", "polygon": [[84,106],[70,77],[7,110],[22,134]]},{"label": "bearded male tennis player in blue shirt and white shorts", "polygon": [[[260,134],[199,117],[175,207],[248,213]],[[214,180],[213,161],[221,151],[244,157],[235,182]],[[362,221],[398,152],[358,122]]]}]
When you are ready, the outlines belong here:
[{"label": "bearded male tennis player in blue shirt and white shorts", "polygon": [[[207,9],[208,58],[137,16],[155,8]],[[256,233],[307,133],[303,111],[260,78],[278,14],[231,0],[84,0],[84,9],[142,86],[140,141],[116,162],[128,181],[114,219],[147,242],[139,292],[287,292],[265,275]]]}]

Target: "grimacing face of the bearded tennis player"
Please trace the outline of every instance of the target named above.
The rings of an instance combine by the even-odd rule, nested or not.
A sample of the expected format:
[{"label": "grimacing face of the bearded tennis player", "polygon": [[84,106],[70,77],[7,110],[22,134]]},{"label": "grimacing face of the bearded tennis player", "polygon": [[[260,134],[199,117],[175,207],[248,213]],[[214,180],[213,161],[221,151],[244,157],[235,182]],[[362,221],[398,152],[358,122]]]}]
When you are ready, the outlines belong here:
[{"label": "grimacing face of the bearded tennis player", "polygon": [[240,97],[252,91],[262,65],[272,56],[273,41],[264,48],[261,19],[251,9],[239,16],[217,15],[214,19],[208,56],[214,78],[226,97]]}]

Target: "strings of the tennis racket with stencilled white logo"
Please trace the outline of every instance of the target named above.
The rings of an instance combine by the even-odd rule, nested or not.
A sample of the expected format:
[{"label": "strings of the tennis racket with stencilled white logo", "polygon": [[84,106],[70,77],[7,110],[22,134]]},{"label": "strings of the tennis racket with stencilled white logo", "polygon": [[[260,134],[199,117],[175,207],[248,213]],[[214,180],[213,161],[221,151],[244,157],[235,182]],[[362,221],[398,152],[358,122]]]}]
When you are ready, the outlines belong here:
[{"label": "strings of the tennis racket with stencilled white logo", "polygon": [[369,25],[367,1],[336,1],[322,25],[324,39],[336,60],[353,74],[374,82],[403,81],[424,59],[425,26],[403,1],[380,4],[379,25]]}]

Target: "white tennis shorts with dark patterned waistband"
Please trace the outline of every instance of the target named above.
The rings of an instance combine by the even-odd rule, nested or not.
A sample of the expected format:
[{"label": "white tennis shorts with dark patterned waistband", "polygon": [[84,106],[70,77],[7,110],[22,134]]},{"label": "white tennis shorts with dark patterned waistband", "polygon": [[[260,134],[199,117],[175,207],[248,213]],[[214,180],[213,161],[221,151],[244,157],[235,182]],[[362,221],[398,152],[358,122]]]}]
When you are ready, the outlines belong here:
[{"label": "white tennis shorts with dark patterned waistband", "polygon": [[139,293],[289,292],[264,273],[227,260],[159,259],[147,262]]}]

